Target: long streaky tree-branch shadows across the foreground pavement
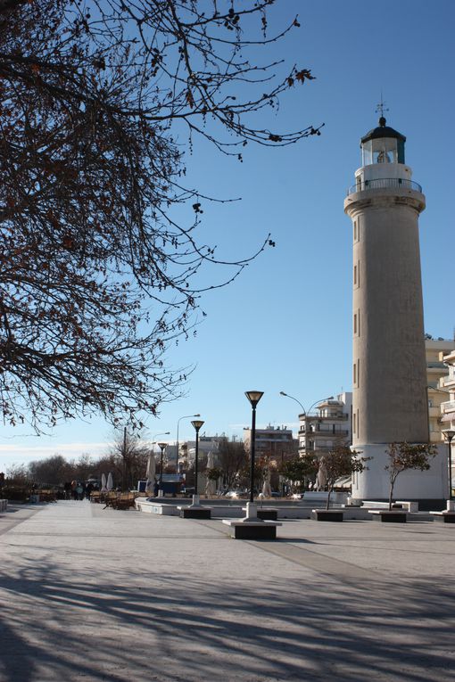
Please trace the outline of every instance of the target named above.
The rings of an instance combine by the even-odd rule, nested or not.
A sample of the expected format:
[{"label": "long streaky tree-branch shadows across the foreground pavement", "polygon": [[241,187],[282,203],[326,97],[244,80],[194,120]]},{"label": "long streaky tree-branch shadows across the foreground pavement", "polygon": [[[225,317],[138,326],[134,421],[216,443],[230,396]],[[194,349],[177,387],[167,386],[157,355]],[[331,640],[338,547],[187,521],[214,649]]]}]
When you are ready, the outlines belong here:
[{"label": "long streaky tree-branch shadows across the foreground pavement", "polygon": [[451,679],[453,581],[146,571],[2,568],[0,679]]}]

